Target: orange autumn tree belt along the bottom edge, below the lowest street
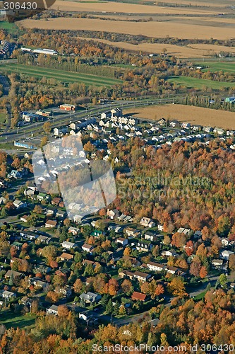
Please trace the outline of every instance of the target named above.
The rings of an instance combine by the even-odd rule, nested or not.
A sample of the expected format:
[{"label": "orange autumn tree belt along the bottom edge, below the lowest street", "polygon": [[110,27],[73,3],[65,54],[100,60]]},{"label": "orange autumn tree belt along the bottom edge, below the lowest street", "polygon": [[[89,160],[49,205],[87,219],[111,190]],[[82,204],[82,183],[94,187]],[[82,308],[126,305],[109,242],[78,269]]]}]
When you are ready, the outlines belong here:
[{"label": "orange autumn tree belt along the bottom edge, below the lowest street", "polygon": [[[199,347],[215,343],[224,346],[220,353],[233,353],[226,350],[226,344],[235,345],[234,337],[234,290],[219,289],[208,291],[204,301],[194,302],[193,299],[176,297],[170,307],[155,307],[152,314],[159,318],[155,328],[143,321],[116,328],[108,324],[99,329],[88,329],[64,305],[59,307],[59,316],[41,316],[36,326],[29,333],[20,329],[0,327],[1,353],[92,353],[92,345],[134,346],[147,343],[148,346],[164,346],[165,350],[155,353],[170,353],[168,346],[186,348],[183,353],[191,353],[191,346],[198,345],[196,353],[205,353]],[[222,347],[223,348],[223,347]],[[102,350],[100,353],[113,353]],[[117,352],[120,353],[120,352]],[[140,351],[138,353],[145,353]],[[182,353],[182,352],[181,352]]]}]

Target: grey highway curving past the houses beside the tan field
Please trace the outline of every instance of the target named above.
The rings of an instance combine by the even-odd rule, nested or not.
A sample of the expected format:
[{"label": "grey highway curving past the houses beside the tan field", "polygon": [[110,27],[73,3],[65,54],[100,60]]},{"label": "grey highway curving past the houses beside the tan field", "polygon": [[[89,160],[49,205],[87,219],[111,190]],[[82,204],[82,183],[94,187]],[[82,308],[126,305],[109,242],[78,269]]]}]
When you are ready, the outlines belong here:
[{"label": "grey highway curving past the houses beside the tan field", "polygon": [[[47,122],[49,121],[52,127],[60,127],[62,125],[68,125],[70,122],[76,122],[77,120],[100,115],[100,113],[111,110],[112,108],[139,108],[146,105],[174,103],[175,101],[181,101],[181,99],[182,98],[180,96],[174,96],[172,98],[144,98],[138,101],[114,101],[113,103],[96,105],[95,107],[90,109],[87,108],[83,111],[76,111],[66,115],[56,115],[54,118],[47,120]],[[14,140],[24,139],[27,137],[27,135],[31,135],[31,132],[35,133],[42,130],[42,125],[44,125],[44,122],[45,121],[35,122],[31,123],[30,125],[24,125],[23,127],[15,128],[13,130],[5,130],[0,136],[0,142],[13,142]]]}]

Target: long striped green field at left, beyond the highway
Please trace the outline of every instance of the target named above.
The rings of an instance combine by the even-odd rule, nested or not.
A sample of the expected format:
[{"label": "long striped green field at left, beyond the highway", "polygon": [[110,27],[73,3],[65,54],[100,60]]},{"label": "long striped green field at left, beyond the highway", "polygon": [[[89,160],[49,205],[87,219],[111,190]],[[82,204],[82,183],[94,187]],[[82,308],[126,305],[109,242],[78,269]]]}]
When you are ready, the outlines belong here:
[{"label": "long striped green field at left, beyond the highway", "polygon": [[0,72],[17,72],[37,78],[46,77],[47,79],[56,79],[63,82],[81,82],[87,86],[112,86],[122,84],[123,81],[103,76],[82,74],[78,72],[64,72],[59,69],[47,69],[44,67],[35,67],[24,64],[0,64]]}]

